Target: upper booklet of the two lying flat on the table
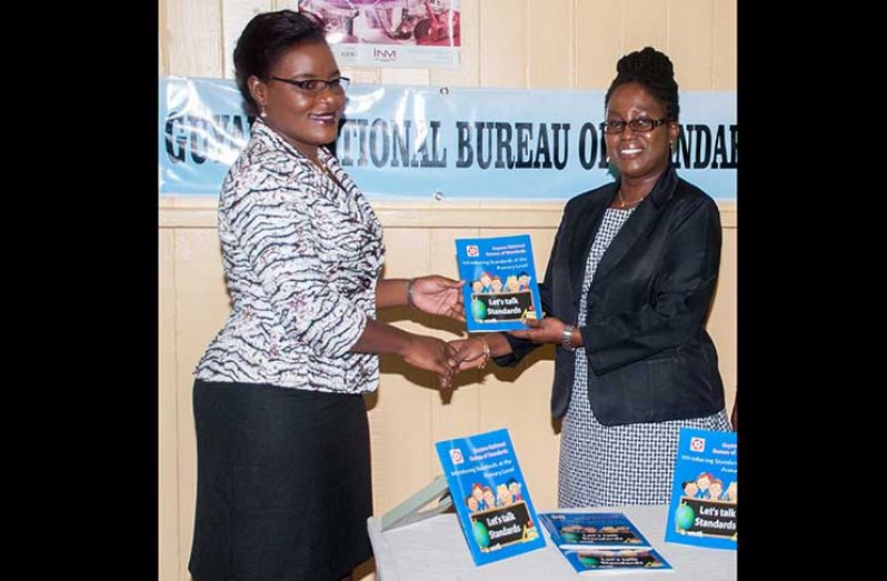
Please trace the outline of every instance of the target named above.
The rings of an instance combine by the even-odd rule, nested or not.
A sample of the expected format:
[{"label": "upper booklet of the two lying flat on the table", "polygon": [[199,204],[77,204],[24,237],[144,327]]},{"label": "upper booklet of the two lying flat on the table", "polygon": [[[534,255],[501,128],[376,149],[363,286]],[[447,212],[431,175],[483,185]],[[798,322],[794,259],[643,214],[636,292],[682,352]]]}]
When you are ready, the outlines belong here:
[{"label": "upper booklet of the two lying flat on the table", "polygon": [[650,543],[621,512],[540,512],[551,541],[561,549],[649,549]]}]

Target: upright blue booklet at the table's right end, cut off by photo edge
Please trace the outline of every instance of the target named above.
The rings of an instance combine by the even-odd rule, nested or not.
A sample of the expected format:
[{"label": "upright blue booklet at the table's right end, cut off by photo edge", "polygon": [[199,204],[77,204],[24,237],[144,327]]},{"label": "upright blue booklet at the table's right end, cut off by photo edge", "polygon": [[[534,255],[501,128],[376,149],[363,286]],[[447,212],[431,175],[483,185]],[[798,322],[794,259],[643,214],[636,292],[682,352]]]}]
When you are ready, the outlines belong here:
[{"label": "upright blue booklet at the table's right end, cut off by photo edge", "polygon": [[736,550],[736,432],[681,428],[666,541]]}]

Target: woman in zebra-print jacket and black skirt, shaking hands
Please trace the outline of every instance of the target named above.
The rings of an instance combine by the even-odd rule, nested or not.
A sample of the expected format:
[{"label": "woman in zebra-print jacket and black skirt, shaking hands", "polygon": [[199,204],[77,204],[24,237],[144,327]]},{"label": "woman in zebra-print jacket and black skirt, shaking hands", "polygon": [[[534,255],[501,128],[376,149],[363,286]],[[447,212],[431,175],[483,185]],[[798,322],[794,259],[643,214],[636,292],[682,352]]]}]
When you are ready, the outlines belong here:
[{"label": "woman in zebra-print jacket and black skirt, shaking hands", "polygon": [[232,310],[196,370],[189,569],[196,581],[350,578],[371,557],[362,394],[378,387],[378,355],[400,355],[441,385],[457,367],[444,341],[376,310],[462,320],[462,282],[379,280],[381,224],[322,147],[336,140],[348,79],[319,19],[255,17],[235,66],[259,117],[219,201]]}]

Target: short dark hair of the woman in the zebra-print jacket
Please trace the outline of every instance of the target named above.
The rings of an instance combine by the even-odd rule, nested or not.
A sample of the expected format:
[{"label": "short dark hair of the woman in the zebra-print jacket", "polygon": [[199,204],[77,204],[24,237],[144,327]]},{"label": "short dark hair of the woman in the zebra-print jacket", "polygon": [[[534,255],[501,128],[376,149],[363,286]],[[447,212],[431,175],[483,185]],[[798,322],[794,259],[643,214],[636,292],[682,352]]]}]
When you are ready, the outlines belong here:
[{"label": "short dark hair of the woman in the zebra-print jacket", "polygon": [[292,10],[262,12],[247,23],[235,47],[235,79],[251,113],[259,108],[249,93],[247,79],[255,74],[267,80],[277,59],[293,46],[326,43],[323,27],[323,20],[317,14]]}]

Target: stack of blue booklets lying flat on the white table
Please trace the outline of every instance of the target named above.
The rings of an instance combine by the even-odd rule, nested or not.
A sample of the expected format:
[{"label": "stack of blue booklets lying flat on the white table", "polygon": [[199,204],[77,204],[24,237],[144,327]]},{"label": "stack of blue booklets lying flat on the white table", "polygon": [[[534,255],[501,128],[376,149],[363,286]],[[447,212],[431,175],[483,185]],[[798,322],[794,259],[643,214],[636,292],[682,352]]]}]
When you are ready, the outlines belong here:
[{"label": "stack of blue booklets lying flat on the white table", "polygon": [[621,512],[540,512],[539,520],[578,573],[672,570]]}]

